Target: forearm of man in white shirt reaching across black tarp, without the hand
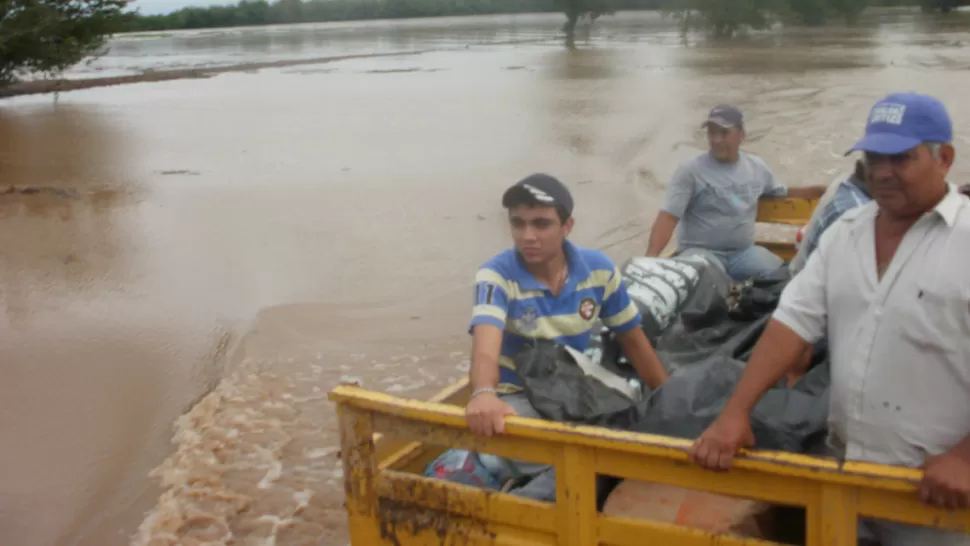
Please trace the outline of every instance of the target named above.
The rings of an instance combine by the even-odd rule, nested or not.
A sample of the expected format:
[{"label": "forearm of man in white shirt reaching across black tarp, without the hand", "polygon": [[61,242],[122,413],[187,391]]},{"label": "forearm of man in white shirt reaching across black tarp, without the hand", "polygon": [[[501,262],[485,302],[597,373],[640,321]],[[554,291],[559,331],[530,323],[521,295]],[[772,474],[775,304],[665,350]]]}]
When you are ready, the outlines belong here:
[{"label": "forearm of man in white shirt reaching across black tarp, without the hand", "polygon": [[792,369],[809,346],[791,328],[770,320],[755,345],[734,394],[724,408],[725,413],[750,415],[758,400]]}]

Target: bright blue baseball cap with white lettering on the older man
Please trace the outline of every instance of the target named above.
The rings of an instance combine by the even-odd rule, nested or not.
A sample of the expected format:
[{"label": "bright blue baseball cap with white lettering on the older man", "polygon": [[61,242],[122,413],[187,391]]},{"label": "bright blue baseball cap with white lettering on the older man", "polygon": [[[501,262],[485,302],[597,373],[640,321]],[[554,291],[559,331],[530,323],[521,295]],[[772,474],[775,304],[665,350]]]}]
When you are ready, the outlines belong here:
[{"label": "bright blue baseball cap with white lettering on the older man", "polygon": [[918,93],[893,93],[869,111],[866,135],[845,155],[861,150],[900,154],[924,142],[950,142],[953,124],[937,99]]}]

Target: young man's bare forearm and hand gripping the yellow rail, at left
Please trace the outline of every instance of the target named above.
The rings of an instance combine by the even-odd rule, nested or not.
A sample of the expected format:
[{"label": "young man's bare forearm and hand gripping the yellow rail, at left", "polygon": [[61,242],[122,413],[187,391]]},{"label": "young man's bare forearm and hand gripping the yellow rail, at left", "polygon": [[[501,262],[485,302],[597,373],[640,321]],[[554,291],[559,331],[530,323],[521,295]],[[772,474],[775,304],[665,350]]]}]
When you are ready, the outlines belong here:
[{"label": "young man's bare forearm and hand gripping the yellow rail, at left", "polygon": [[503,402],[498,386],[498,359],[502,351],[502,329],[492,324],[477,324],[472,330],[472,363],[468,371],[471,400],[465,418],[472,432],[482,436],[505,432],[505,416],[515,410]]}]

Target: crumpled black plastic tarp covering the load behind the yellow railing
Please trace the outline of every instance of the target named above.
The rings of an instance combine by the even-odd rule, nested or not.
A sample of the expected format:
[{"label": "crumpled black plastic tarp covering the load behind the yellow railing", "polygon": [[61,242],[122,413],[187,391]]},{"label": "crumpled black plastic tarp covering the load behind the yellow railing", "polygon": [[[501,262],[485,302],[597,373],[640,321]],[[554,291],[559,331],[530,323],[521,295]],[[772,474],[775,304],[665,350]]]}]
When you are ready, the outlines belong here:
[{"label": "crumpled black plastic tarp covering the load behind the yellow railing", "polygon": [[[628,264],[629,265],[629,264]],[[624,268],[627,270],[628,268]],[[679,305],[679,316],[663,332],[651,336],[661,361],[671,370],[667,383],[639,402],[590,380],[562,346],[549,341],[525,345],[516,355],[516,369],[536,410],[556,421],[581,422],[693,439],[717,418],[744,371],[747,358],[777,305],[787,271],[776,278],[748,281],[737,306],[728,310],[726,284],[717,283],[713,267],[702,269],[709,285],[695,283],[693,295]],[[628,285],[643,279],[627,279]],[[702,287],[707,288],[701,290]],[[636,301],[642,290],[631,290]],[[697,294],[701,292],[701,296]],[[641,312],[650,303],[637,301]],[[694,310],[685,313],[685,309]],[[645,329],[656,315],[644,319]],[[600,347],[588,353],[607,369],[633,377],[621,362],[615,340],[604,334]],[[828,357],[818,348],[810,372],[794,388],[779,384],[755,406],[752,429],[756,447],[791,452],[815,452],[826,432]]]}]

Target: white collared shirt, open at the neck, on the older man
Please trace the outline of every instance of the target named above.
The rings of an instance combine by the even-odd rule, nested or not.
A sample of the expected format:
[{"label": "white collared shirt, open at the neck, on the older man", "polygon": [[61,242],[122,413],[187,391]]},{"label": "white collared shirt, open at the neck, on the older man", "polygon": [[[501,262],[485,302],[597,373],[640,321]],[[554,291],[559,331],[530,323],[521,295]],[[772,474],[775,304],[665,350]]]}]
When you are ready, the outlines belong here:
[{"label": "white collared shirt, open at the neck, on the older man", "polygon": [[774,318],[828,335],[829,430],[848,460],[918,467],[970,435],[970,200],[952,184],[879,280],[875,201],[832,225]]}]

